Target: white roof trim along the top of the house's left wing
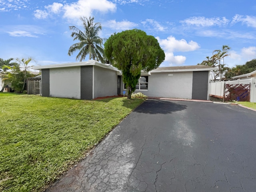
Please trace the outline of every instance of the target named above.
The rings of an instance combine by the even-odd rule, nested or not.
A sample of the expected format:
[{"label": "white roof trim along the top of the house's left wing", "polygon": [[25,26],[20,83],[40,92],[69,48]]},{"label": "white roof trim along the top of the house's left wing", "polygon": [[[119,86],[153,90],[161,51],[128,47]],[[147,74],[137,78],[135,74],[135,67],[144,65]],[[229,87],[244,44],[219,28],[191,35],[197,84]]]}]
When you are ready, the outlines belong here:
[{"label": "white roof trim along the top of the house's left wing", "polygon": [[97,62],[95,60],[88,60],[85,62],[72,62],[72,63],[64,63],[64,64],[54,64],[54,65],[44,65],[44,66],[34,66],[33,69],[51,69],[51,68],[64,68],[64,67],[77,67],[77,66],[90,66],[95,65],[102,68],[107,68],[114,71],[119,71],[117,68],[113,67],[109,64],[102,64],[100,62]]}]

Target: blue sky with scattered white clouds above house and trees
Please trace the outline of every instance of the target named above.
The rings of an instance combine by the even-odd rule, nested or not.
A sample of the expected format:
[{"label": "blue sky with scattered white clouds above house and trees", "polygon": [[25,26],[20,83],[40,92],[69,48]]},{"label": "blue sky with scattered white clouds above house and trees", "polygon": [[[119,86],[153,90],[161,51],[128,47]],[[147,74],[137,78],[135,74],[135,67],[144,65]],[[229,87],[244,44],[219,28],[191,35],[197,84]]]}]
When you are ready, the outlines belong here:
[{"label": "blue sky with scattered white clouds above house and trees", "polygon": [[0,0],[0,58],[37,65],[75,62],[69,26],[100,22],[100,36],[138,28],[158,39],[161,66],[196,65],[222,45],[229,67],[256,58],[255,0]]}]

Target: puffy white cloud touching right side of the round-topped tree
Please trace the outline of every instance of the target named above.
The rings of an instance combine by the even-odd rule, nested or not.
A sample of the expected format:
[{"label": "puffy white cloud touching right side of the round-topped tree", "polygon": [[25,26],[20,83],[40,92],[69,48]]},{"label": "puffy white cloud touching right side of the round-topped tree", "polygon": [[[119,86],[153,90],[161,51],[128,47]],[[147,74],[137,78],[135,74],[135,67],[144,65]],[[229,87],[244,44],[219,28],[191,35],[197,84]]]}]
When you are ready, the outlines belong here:
[{"label": "puffy white cloud touching right side of the round-topped tree", "polygon": [[169,36],[166,39],[160,39],[159,37],[156,37],[156,39],[158,40],[165,53],[165,60],[162,66],[181,65],[186,61],[185,56],[174,56],[174,52],[188,52],[200,48],[200,46],[194,41],[186,42],[184,39],[176,40],[176,38],[173,36]]}]

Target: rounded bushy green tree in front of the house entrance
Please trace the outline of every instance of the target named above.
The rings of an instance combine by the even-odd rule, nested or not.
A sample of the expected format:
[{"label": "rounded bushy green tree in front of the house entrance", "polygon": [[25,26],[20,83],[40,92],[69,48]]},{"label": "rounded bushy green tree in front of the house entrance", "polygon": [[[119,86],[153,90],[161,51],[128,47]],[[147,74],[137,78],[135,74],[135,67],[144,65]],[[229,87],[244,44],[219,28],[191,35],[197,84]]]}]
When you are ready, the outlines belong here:
[{"label": "rounded bushy green tree in front of the house entrance", "polygon": [[128,99],[136,89],[141,70],[157,68],[165,58],[156,38],[138,29],[113,34],[104,44],[106,58],[122,71]]}]

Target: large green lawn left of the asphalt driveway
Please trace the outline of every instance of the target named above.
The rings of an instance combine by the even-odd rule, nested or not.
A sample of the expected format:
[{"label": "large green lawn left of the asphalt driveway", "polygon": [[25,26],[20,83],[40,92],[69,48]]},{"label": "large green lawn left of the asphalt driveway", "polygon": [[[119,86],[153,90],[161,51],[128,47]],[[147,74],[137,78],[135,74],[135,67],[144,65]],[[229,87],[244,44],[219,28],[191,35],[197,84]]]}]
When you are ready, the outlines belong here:
[{"label": "large green lawn left of the asphalt driveway", "polygon": [[44,190],[142,102],[0,93],[0,191]]}]

